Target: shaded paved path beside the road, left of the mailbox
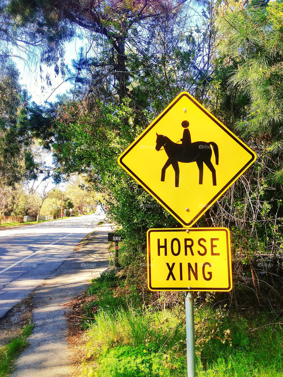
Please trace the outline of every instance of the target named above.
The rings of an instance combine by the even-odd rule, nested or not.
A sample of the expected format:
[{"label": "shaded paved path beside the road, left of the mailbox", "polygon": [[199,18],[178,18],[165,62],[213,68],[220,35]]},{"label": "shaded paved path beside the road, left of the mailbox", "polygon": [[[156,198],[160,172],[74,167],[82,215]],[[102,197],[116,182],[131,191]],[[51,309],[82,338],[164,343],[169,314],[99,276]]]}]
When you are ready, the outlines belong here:
[{"label": "shaded paved path beside the road, left of the mailbox", "polygon": [[73,357],[68,346],[65,305],[86,290],[89,280],[108,267],[107,233],[111,224],[96,227],[95,235],[77,247],[43,284],[35,289],[32,311],[34,332],[30,346],[18,357],[11,377],[66,377]]}]

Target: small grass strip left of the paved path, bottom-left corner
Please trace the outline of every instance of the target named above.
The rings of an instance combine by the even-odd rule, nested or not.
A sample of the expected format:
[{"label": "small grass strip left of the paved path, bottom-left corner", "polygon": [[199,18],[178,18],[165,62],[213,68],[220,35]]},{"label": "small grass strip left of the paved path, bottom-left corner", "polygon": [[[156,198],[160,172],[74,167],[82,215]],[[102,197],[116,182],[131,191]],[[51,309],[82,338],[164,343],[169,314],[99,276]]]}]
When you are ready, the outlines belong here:
[{"label": "small grass strip left of the paved path, bottom-left corner", "polygon": [[15,358],[28,346],[26,338],[32,334],[32,329],[33,325],[25,326],[19,336],[0,347],[0,377],[6,377],[12,371]]}]

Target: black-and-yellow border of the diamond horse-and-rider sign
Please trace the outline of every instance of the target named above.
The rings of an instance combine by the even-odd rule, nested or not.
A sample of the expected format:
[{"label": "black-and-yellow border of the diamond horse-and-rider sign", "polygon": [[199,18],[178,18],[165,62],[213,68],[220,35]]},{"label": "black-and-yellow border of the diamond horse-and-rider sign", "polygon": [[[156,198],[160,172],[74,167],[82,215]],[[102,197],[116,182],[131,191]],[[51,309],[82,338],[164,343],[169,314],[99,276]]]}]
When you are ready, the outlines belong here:
[{"label": "black-and-yellow border of the diamond horse-and-rider sign", "polygon": [[[239,172],[236,173],[236,175],[234,175],[234,177],[221,189],[219,190],[219,192],[210,200],[210,202],[207,203],[207,205],[204,205],[203,208],[201,208],[201,210],[199,211],[199,213],[197,213],[197,215],[191,219],[190,222],[186,223],[185,221],[182,220],[182,218],[177,215],[177,213],[175,213],[164,201],[162,201],[161,198],[159,198],[159,196],[153,192],[150,187],[148,187],[141,179],[139,179],[139,177],[137,175],[135,175],[135,173],[126,165],[124,164],[123,162],[123,158],[128,154],[128,152],[130,152],[130,150],[133,149],[133,147],[136,146],[136,144],[138,144],[141,139],[148,133],[148,131],[150,131],[158,122],[159,120],[168,112],[170,111],[170,109],[182,98],[186,96],[190,101],[192,101],[200,110],[202,110],[211,120],[213,120],[217,126],[219,126],[223,131],[225,131],[229,136],[231,136],[232,139],[234,139],[234,141],[236,141],[238,144],[240,144],[240,146],[243,147],[243,149],[246,150],[246,152],[248,152],[250,155],[251,155],[251,159],[245,164],[245,166],[242,167],[242,169],[239,170]],[[199,102],[197,102],[197,100],[195,100],[189,93],[187,92],[181,92],[167,107],[166,109],[164,109],[164,111],[162,111],[162,113],[160,115],[158,115],[158,117],[141,133],[141,135],[139,135],[134,141],[132,144],[130,144],[130,146],[128,146],[128,148],[126,150],[124,150],[124,152],[118,157],[118,164],[126,170],[126,172],[132,176],[151,196],[153,196],[153,198],[155,198],[159,204],[162,205],[162,207],[164,207],[169,213],[171,213],[172,216],[174,216],[174,218],[179,221],[184,227],[191,227],[202,215],[203,213],[205,213],[205,211],[207,211],[211,205],[213,205],[217,199],[219,199],[219,197],[226,191],[228,190],[228,188],[239,178],[240,175],[243,174],[243,172],[245,172],[249,166],[251,166],[251,164],[256,160],[257,158],[257,155],[254,153],[253,150],[251,150],[245,143],[243,143],[236,135],[234,135],[233,132],[231,132],[227,127],[224,126],[224,124],[222,124],[219,120],[217,120],[217,118],[215,118],[214,115],[212,115],[207,109],[205,109],[205,107],[203,107]]]}]

